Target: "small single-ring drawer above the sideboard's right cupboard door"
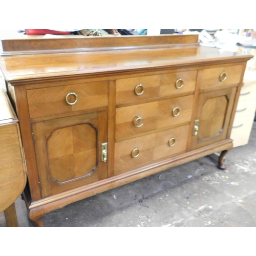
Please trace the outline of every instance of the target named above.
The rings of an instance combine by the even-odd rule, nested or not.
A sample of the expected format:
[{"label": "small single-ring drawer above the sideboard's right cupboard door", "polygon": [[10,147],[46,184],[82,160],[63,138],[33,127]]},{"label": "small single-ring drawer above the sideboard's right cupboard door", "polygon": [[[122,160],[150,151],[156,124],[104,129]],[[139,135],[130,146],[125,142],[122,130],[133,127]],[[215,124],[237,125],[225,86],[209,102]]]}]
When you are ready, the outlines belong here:
[{"label": "small single-ring drawer above the sideboard's right cupboard door", "polygon": [[243,65],[204,69],[201,90],[237,85],[240,81],[242,70]]}]

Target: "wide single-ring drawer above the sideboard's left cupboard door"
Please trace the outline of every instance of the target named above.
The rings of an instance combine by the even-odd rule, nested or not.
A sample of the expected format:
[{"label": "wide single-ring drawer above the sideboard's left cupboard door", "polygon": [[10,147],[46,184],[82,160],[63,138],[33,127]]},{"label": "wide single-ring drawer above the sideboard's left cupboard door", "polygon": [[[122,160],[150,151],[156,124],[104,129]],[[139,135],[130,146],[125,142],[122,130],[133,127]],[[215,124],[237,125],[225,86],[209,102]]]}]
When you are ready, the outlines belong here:
[{"label": "wide single-ring drawer above the sideboard's left cupboard door", "polygon": [[30,118],[108,106],[108,82],[27,90]]}]

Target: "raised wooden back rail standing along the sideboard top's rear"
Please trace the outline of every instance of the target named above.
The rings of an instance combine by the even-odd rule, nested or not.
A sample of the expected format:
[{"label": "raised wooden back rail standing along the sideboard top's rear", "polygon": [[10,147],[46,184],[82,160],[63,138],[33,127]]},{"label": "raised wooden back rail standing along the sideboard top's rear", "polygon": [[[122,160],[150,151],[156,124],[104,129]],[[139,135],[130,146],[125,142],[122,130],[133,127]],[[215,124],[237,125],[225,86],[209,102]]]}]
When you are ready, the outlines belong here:
[{"label": "raised wooden back rail standing along the sideboard top's rear", "polygon": [[198,35],[19,38],[2,40],[2,52],[115,48],[148,45],[195,44]]}]

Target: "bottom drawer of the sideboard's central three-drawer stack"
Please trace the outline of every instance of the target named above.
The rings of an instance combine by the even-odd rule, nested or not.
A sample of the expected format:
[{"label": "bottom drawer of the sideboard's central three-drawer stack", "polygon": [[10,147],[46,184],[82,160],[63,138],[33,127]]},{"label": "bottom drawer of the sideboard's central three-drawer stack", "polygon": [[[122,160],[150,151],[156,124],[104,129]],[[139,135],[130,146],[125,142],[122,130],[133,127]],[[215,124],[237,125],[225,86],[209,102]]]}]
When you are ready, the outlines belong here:
[{"label": "bottom drawer of the sideboard's central three-drawer stack", "polygon": [[115,175],[161,158],[186,151],[189,125],[184,125],[117,142],[115,144]]}]

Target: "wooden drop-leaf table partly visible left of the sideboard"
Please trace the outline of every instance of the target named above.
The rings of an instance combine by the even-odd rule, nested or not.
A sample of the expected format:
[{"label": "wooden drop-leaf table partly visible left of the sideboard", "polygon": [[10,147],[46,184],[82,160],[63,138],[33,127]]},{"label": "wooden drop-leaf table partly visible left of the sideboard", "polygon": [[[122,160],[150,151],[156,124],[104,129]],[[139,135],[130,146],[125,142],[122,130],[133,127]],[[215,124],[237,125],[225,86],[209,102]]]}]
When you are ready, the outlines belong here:
[{"label": "wooden drop-leaf table partly visible left of the sideboard", "polygon": [[0,212],[7,226],[18,226],[14,202],[23,193],[27,175],[18,119],[7,94],[0,90]]}]

